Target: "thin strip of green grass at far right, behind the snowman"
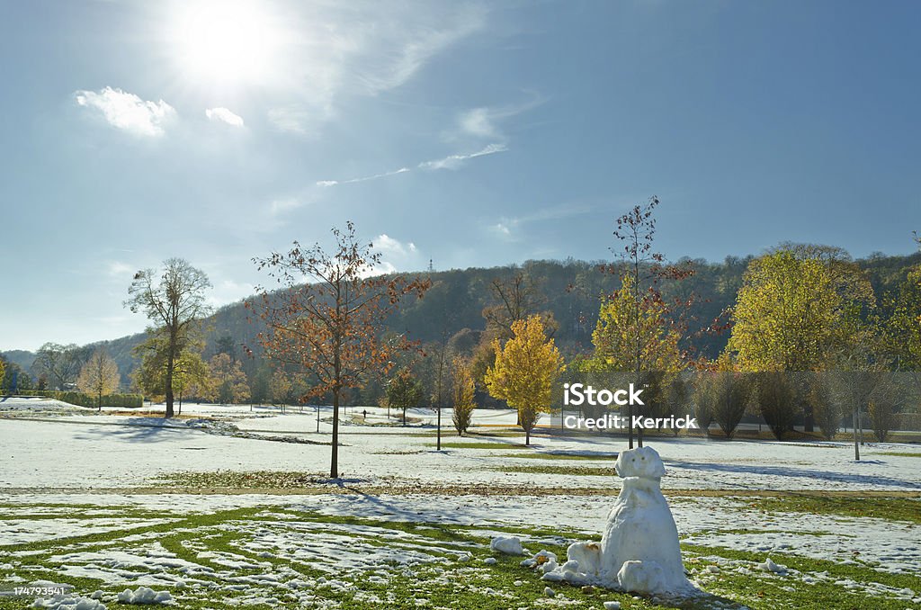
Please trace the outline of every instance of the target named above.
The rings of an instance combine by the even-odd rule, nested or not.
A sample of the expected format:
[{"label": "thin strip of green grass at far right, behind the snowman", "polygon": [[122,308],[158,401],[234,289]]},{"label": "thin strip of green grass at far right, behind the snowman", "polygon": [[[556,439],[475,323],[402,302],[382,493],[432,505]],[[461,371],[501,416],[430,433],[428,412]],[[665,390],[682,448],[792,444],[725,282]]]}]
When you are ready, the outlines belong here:
[{"label": "thin strip of green grass at far right, behind the snowman", "polygon": [[746,501],[753,508],[772,512],[810,512],[921,523],[921,499],[784,495]]}]

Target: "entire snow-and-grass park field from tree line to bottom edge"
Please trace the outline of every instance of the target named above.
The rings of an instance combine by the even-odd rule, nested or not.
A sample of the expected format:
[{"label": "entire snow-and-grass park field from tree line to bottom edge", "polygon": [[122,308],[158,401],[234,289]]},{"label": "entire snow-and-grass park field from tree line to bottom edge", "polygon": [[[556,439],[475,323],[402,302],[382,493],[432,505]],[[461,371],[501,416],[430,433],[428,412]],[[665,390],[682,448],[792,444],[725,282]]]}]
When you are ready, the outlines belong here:
[{"label": "entire snow-and-grass park field from tree line to bottom edge", "polygon": [[[168,591],[160,601],[180,607],[472,607],[449,604],[451,595],[496,608],[650,603],[551,595],[518,559],[484,561],[490,535],[508,531],[531,552],[598,538],[620,486],[610,469],[622,438],[539,433],[526,449],[509,433],[513,412],[484,411],[472,438],[446,436],[437,452],[435,414],[411,412],[403,428],[397,413],[350,408],[340,428],[344,479],[329,482],[329,409],[318,433],[309,408],[183,405],[172,420],[160,408],[126,416],[0,403],[0,591],[68,583],[59,602],[82,596],[85,607],[111,605],[126,588],[125,600]],[[442,417],[447,431],[449,411]],[[804,591],[854,604],[841,607],[869,607],[860,604],[870,598],[885,600],[874,607],[921,607],[917,447],[869,444],[857,463],[846,443],[647,444],[666,463],[662,487],[692,580],[720,596],[699,607],[783,606],[785,594],[801,607]],[[273,473],[297,473],[300,483],[275,484]],[[822,505],[827,492],[850,508]],[[894,504],[872,516],[853,510],[854,499],[859,508],[880,495]],[[774,496],[819,504],[763,503]],[[787,568],[764,569],[767,557]]]}]

